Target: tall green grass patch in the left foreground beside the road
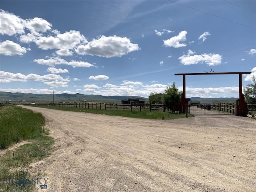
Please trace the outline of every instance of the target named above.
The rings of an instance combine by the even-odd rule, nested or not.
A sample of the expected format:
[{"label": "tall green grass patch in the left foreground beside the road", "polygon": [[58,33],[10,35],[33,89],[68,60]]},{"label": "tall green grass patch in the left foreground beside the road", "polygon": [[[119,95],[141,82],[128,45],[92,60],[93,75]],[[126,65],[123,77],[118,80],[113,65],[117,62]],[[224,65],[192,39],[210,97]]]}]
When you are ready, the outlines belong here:
[{"label": "tall green grass patch in the left foreground beside the road", "polygon": [[[0,191],[29,192],[35,188],[34,184],[24,183],[42,177],[40,172],[31,172],[31,164],[47,157],[54,143],[44,124],[40,113],[18,106],[0,108]],[[8,149],[19,142],[25,144]],[[9,178],[15,178],[14,183],[9,184]]]}]

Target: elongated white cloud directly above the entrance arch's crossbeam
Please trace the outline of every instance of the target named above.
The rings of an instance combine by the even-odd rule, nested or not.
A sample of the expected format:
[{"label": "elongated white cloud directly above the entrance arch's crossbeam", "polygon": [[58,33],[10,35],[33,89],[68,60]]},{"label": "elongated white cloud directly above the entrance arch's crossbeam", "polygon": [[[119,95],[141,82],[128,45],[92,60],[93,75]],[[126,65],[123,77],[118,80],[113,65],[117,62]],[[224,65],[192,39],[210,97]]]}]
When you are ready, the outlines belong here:
[{"label": "elongated white cloud directly above the entrance arch's crossbeam", "polygon": [[222,56],[219,54],[201,54],[196,55],[196,52],[193,52],[191,50],[188,50],[187,55],[180,56],[179,60],[184,65],[191,65],[191,64],[198,64],[200,63],[206,63],[208,66],[216,66],[221,64]]}]

